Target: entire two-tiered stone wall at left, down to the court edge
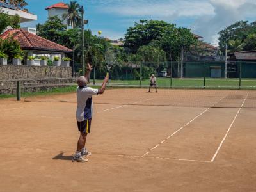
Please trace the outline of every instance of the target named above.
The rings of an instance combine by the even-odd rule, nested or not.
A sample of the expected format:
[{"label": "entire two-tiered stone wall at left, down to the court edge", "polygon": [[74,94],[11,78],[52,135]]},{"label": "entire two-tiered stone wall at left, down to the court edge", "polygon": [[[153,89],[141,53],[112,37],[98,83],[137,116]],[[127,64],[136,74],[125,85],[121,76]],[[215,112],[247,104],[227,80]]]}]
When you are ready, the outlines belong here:
[{"label": "entire two-tiered stone wall at left, down to the court edge", "polygon": [[17,81],[22,92],[37,92],[69,86],[76,79],[72,78],[72,67],[0,65],[0,94],[14,95]]}]

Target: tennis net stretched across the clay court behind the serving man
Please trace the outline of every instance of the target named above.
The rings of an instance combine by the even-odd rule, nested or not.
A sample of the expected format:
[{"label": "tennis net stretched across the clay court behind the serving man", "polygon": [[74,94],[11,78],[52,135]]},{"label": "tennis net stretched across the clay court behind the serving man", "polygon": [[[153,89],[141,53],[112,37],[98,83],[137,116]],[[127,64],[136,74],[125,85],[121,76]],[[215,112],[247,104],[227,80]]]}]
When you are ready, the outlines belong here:
[{"label": "tennis net stretched across the clay court behind the serving man", "polygon": [[[100,83],[90,84],[99,88]],[[24,83],[21,100],[24,102],[63,102],[76,104],[74,83]],[[201,107],[256,108],[256,90],[212,89],[202,86],[149,86],[109,84],[104,95],[93,98],[95,104]]]}]

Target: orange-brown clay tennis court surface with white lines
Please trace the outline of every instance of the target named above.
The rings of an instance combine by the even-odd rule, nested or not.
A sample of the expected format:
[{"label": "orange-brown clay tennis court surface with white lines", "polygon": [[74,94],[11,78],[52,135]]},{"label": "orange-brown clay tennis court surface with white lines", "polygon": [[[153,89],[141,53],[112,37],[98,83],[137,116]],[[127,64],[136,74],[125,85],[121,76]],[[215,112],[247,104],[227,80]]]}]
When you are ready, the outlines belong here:
[{"label": "orange-brown clay tennis court surface with white lines", "polygon": [[[113,89],[72,163],[76,93],[0,100],[0,191],[256,191],[256,92]],[[29,102],[28,102],[29,101]]]}]

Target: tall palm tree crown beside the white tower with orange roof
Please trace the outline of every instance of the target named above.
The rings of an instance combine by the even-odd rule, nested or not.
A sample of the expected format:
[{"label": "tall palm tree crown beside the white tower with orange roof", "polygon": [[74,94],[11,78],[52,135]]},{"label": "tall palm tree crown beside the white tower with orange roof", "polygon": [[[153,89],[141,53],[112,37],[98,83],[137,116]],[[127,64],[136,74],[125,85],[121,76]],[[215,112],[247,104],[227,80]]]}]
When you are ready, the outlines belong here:
[{"label": "tall palm tree crown beside the white tower with orange roof", "polygon": [[70,1],[70,4],[67,4],[68,10],[67,13],[64,13],[62,15],[63,20],[67,19],[68,26],[71,26],[72,29],[76,28],[76,26],[79,26],[81,22],[81,16],[79,15],[79,12],[81,11],[80,5],[77,3],[77,1]]}]

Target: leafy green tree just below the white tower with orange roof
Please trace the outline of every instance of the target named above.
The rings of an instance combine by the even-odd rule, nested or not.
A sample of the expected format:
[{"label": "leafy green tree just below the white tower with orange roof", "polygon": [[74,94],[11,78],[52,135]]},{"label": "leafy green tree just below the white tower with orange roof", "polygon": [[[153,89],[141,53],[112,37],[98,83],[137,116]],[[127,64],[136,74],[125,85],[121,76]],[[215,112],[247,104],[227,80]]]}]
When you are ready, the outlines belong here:
[{"label": "leafy green tree just below the white tower with orange roof", "polygon": [[49,17],[49,19],[44,24],[37,24],[37,35],[51,40],[52,42],[61,42],[61,33],[67,29],[65,25],[62,24],[61,20],[57,17]]}]

